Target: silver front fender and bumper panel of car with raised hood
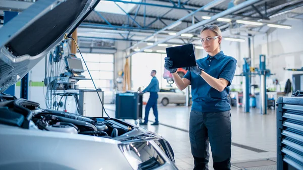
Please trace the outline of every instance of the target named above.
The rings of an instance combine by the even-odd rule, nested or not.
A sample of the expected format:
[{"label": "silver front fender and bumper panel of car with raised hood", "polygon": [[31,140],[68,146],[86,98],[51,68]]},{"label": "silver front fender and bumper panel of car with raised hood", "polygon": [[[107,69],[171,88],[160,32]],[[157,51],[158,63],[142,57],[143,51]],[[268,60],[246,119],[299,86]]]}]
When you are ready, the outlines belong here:
[{"label": "silver front fender and bumper panel of car with raised hood", "polygon": [[[118,147],[122,142],[113,139],[0,124],[0,143],[0,169],[133,169]],[[156,169],[177,169],[154,141],[149,143],[166,161]]]}]

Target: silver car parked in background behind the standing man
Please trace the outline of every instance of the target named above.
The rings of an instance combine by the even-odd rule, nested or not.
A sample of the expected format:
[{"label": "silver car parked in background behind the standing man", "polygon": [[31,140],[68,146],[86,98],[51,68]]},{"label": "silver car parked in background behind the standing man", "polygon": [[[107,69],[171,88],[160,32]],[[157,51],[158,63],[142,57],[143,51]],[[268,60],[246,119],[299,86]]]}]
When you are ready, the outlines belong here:
[{"label": "silver car parked in background behind the standing man", "polygon": [[[186,94],[185,92],[177,88],[161,88],[158,92],[158,104],[167,106],[168,104],[185,104],[186,103]],[[191,96],[189,96],[190,98]],[[149,93],[143,94],[143,102],[148,101]]]}]

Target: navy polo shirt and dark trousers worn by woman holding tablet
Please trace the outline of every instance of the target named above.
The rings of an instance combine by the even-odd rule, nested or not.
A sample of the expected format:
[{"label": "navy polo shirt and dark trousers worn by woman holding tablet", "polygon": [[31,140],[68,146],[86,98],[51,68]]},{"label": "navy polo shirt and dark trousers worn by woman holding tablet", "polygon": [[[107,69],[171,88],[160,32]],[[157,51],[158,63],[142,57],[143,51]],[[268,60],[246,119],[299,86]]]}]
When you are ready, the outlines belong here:
[{"label": "navy polo shirt and dark trousers worn by woman holding tablet", "polygon": [[[215,56],[196,61],[198,66],[214,78],[224,78],[231,84],[237,61],[220,51]],[[231,122],[227,95],[212,88],[202,77],[187,72],[191,81],[192,106],[189,119],[189,138],[194,169],[208,169],[209,143],[212,147],[214,169],[230,169]]]}]

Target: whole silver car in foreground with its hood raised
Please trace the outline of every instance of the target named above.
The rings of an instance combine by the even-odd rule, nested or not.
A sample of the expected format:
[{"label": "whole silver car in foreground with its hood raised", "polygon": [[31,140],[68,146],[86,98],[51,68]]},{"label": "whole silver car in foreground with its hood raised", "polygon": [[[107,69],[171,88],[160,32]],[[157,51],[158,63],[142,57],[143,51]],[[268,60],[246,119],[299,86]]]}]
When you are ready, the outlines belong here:
[{"label": "whole silver car in foreground with its hood raised", "polygon": [[99,0],[39,0],[0,28],[0,169],[177,169],[160,135],[110,117],[43,109],[3,92]]}]

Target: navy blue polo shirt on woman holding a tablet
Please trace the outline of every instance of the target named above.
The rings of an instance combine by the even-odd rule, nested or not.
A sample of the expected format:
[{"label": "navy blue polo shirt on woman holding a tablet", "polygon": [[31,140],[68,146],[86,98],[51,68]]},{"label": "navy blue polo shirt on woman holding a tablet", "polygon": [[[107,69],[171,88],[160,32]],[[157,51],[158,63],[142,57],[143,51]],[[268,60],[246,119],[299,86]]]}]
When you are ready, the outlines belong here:
[{"label": "navy blue polo shirt on woman holding a tablet", "polygon": [[[230,86],[235,74],[237,60],[232,56],[227,56],[220,51],[215,56],[207,55],[206,58],[196,61],[200,68],[214,78],[224,78]],[[220,112],[230,110],[227,95],[229,88],[222,92],[212,88],[201,76],[193,72],[187,72],[184,78],[191,82],[191,109],[200,112]]]}]

